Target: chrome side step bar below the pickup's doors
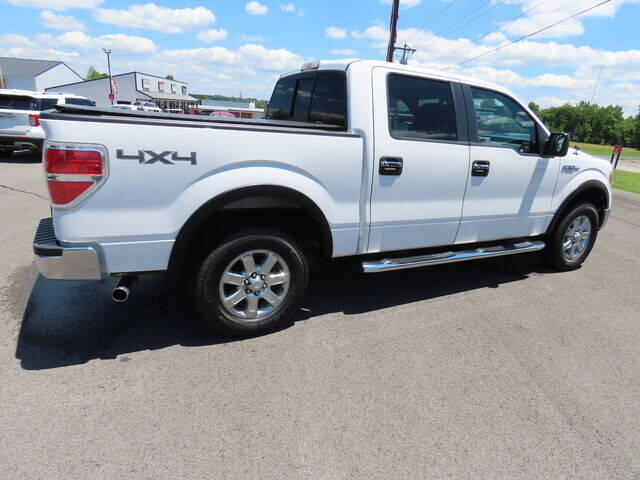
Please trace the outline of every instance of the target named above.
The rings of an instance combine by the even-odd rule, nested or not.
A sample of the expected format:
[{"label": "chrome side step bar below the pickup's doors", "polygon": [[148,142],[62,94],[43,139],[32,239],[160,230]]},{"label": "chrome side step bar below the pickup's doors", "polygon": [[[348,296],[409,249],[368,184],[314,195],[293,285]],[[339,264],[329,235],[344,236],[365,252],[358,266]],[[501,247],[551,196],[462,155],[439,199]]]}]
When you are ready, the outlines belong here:
[{"label": "chrome side step bar below the pickup's doors", "polygon": [[501,257],[503,255],[515,255],[517,253],[537,252],[545,247],[544,242],[520,242],[494,247],[481,247],[475,250],[461,250],[457,252],[433,253],[431,255],[419,255],[405,258],[385,258],[362,262],[362,270],[365,273],[388,272],[405,268],[426,267],[429,265],[441,265],[443,263],[465,262],[478,258]]}]

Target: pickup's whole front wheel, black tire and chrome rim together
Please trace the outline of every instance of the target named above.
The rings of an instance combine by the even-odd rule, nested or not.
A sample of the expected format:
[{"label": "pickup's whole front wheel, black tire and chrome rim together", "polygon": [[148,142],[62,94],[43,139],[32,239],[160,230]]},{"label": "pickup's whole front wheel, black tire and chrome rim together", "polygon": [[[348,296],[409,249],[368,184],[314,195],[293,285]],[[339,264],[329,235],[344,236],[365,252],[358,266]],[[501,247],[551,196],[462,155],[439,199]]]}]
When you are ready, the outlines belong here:
[{"label": "pickup's whole front wheel, black tire and chrome rim together", "polygon": [[546,263],[558,270],[575,270],[587,259],[599,227],[598,211],[581,203],[564,215],[549,237],[544,252]]}]

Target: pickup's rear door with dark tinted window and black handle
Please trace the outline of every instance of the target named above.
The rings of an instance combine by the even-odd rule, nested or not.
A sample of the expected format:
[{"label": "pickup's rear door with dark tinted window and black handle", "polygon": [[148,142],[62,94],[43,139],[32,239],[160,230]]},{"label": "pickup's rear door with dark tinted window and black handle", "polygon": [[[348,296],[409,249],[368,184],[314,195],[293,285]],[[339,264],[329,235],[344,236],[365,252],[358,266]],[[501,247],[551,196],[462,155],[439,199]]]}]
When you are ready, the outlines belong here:
[{"label": "pickup's rear door with dark tinted window and black handle", "polygon": [[369,252],[452,244],[469,171],[462,90],[446,77],[373,70]]}]

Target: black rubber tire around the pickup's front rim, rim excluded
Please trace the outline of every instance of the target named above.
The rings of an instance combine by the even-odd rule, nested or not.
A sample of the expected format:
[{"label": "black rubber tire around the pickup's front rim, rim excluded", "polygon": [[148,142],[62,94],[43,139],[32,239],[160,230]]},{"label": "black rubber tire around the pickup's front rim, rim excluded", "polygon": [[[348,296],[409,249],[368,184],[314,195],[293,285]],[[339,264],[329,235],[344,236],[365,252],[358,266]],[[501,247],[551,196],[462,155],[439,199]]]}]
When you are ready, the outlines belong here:
[{"label": "black rubber tire around the pickup's front rim, rim excluded", "polygon": [[[591,230],[589,241],[582,253],[573,260],[568,260],[563,254],[565,235],[569,225],[580,216],[586,216],[591,222]],[[557,270],[570,271],[580,268],[580,265],[587,259],[591,249],[596,242],[598,229],[600,227],[600,219],[598,211],[591,203],[580,203],[567,211],[547,239],[547,247],[543,251],[543,259],[545,263]]]}]

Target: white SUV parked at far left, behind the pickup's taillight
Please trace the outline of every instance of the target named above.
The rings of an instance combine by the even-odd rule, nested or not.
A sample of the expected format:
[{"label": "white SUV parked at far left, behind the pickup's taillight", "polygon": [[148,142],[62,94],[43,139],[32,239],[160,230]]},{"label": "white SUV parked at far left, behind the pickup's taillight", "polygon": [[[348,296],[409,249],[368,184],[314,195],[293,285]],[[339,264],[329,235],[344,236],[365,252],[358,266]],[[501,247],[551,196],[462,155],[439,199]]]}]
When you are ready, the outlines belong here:
[{"label": "white SUV parked at far left, behind the pickup's taillight", "polygon": [[91,100],[66,93],[38,93],[30,90],[0,89],[0,153],[42,149],[44,132],[40,112],[55,105],[95,105]]}]

